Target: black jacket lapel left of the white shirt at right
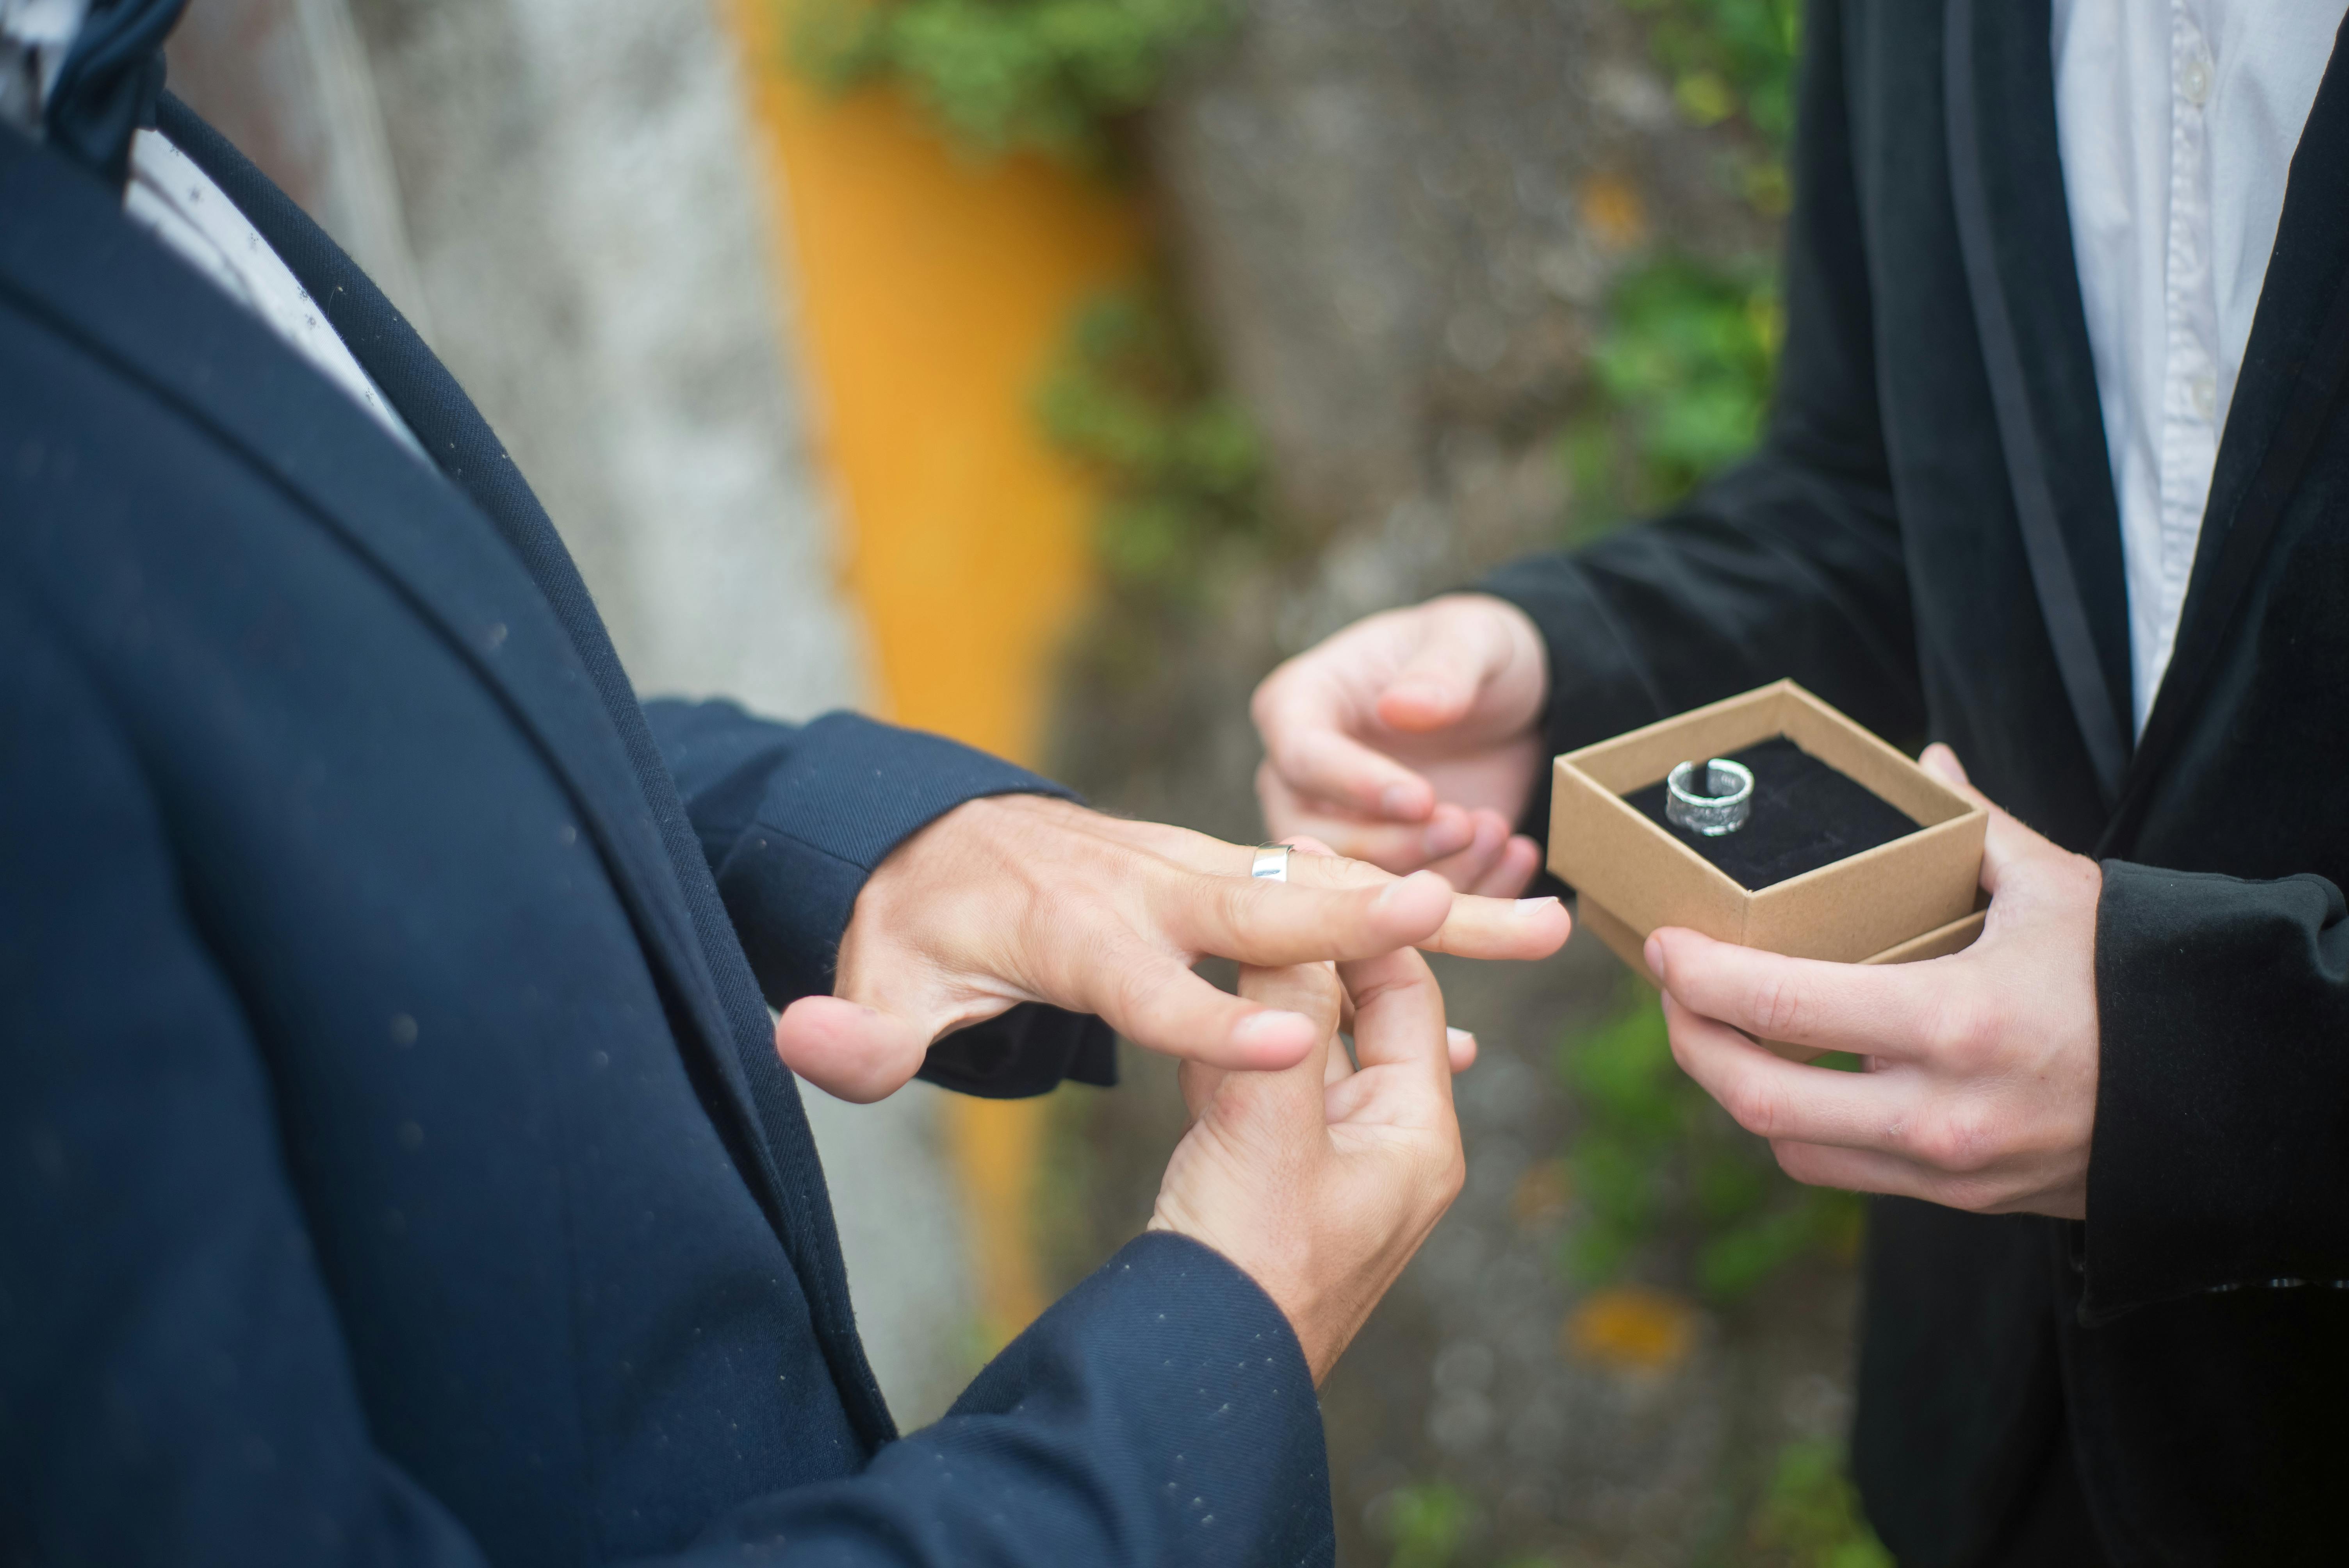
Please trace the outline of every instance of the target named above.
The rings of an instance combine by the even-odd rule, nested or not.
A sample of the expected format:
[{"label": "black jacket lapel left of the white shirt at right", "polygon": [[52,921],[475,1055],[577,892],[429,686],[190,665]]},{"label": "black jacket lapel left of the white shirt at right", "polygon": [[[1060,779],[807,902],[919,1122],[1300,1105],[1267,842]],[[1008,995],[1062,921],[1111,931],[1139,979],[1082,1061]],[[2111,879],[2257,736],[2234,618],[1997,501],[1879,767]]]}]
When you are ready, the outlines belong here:
[{"label": "black jacket lapel left of the white shirt at right", "polygon": [[2128,768],[2121,509],[2072,263],[2046,0],[1950,0],[1950,188],[2025,559],[2112,807]]}]

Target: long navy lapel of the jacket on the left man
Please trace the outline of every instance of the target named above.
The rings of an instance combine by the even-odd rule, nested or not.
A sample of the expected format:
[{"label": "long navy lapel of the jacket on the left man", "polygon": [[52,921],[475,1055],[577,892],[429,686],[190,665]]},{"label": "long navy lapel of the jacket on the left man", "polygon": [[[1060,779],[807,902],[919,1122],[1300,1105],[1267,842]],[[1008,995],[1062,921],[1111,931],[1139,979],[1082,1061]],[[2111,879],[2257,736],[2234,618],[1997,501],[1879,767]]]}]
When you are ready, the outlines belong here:
[{"label": "long navy lapel of the jacket on the left man", "polygon": [[[653,972],[674,998],[679,1045],[714,1070],[728,1103],[721,1120],[733,1122],[728,1138],[792,1256],[860,1434],[888,1441],[893,1427],[855,1338],[832,1207],[796,1089],[775,1061],[763,1002],[674,784],[552,526],[479,413],[364,275],[183,106],[167,101],[164,124],[280,246],[446,477],[416,462],[261,322],[136,232],[113,192],[12,131],[0,134],[0,211],[12,214],[0,225],[0,293],[270,474],[416,603],[533,739],[578,805]],[[287,242],[289,214],[308,230],[294,242]],[[322,265],[327,254],[343,275]],[[371,331],[345,329],[345,312],[364,317]],[[484,526],[484,512],[500,523],[496,530]],[[630,723],[644,756],[632,753]],[[679,838],[681,850],[672,843]],[[693,899],[695,873],[709,908]],[[721,967],[721,953],[731,953],[740,974]],[[747,1005],[738,995],[745,986]]]}]

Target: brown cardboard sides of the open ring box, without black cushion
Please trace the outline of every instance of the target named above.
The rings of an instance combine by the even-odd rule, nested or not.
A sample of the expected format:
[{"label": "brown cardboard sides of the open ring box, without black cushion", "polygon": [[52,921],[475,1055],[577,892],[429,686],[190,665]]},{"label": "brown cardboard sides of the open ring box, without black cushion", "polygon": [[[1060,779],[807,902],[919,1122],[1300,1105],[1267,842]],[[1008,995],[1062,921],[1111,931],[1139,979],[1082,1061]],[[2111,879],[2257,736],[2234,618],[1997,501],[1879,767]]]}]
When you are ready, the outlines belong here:
[{"label": "brown cardboard sides of the open ring box, without black cushion", "polygon": [[[1748,890],[1623,796],[1682,761],[1785,735],[1921,826],[1832,866]],[[1633,974],[1661,925],[1684,925],[1790,958],[1898,965],[1943,958],[1983,934],[1990,815],[1792,681],[1689,709],[1553,763],[1550,871],[1579,915]]]}]

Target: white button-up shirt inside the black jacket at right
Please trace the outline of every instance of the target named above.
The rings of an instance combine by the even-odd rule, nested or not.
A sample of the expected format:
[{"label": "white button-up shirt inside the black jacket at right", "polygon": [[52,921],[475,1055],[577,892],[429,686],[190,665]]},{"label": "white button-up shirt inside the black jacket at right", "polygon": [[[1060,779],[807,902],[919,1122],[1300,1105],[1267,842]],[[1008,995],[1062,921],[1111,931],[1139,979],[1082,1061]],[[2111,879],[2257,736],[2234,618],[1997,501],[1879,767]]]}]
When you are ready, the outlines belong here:
[{"label": "white button-up shirt inside the black jacket at right", "polygon": [[2283,183],[2349,0],[2055,0],[2055,136],[2128,573],[2138,732],[2178,638]]}]

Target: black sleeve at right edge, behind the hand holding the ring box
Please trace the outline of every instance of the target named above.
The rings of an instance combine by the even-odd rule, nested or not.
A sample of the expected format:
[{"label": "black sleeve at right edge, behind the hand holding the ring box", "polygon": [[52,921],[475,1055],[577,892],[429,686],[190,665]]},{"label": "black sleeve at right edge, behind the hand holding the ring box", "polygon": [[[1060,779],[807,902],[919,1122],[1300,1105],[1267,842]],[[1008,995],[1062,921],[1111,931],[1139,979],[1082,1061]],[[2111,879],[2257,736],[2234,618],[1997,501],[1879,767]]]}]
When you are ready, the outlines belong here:
[{"label": "black sleeve at right edge, behind the hand holding the ring box", "polygon": [[2105,864],[2081,1314],[2349,1282],[2349,904]]}]

